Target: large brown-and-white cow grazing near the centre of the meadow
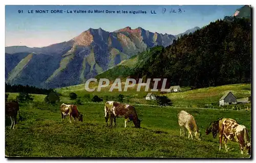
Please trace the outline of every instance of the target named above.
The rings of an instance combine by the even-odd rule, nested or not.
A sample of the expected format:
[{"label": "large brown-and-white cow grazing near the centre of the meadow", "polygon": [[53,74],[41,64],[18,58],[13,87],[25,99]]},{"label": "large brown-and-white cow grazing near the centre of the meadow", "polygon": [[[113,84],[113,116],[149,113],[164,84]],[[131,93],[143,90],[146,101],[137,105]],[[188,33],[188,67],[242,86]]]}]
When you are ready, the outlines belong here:
[{"label": "large brown-and-white cow grazing near the centre of the meadow", "polygon": [[135,107],[129,104],[123,104],[115,101],[107,101],[105,103],[105,122],[108,126],[108,119],[110,117],[110,126],[113,124],[113,119],[116,125],[116,117],[124,118],[124,128],[126,127],[127,122],[133,121],[136,128],[140,128],[140,120],[137,116]]}]

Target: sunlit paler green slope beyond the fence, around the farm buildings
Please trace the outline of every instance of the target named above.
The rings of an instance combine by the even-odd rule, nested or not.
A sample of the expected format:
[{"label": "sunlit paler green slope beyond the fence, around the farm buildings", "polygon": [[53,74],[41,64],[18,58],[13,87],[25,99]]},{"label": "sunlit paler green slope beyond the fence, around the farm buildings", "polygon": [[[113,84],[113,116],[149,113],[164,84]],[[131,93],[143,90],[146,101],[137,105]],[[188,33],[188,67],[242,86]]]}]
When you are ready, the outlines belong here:
[{"label": "sunlit paler green slope beyond the fence, around the farm buildings", "polygon": [[[113,83],[113,82],[112,82]],[[137,92],[137,85],[132,88],[128,88],[127,92],[118,92],[117,89],[114,89],[113,92],[110,92],[112,84],[108,87],[101,88],[100,92],[97,91],[98,83],[90,83],[90,88],[95,88],[94,92],[87,92],[84,89],[84,85],[76,85],[71,87],[64,87],[56,89],[58,93],[62,95],[62,97],[69,97],[71,92],[77,94],[78,98],[81,98],[81,101],[88,101],[84,96],[90,96],[89,101],[94,95],[99,96],[103,99],[103,101],[108,101],[111,97],[116,97],[119,94],[124,95],[124,102],[133,103],[133,104],[156,104],[155,101],[145,100],[145,96],[147,93],[145,92],[145,87],[141,87],[141,91]],[[122,90],[124,88],[124,82],[122,82]],[[251,96],[251,85],[250,84],[235,84],[235,85],[225,85],[225,86],[217,86],[217,87],[208,87],[191,90],[189,87],[181,87],[182,92],[173,92],[173,93],[164,93],[160,94],[160,92],[154,92],[155,95],[165,95],[173,102],[174,107],[193,107],[193,108],[207,108],[206,105],[212,105],[211,108],[222,108],[219,107],[219,99],[225,94],[227,91],[231,91],[234,96],[237,98],[244,98]],[[241,108],[251,108],[251,104],[242,104],[238,105]],[[232,107],[232,105],[231,105]]]}]

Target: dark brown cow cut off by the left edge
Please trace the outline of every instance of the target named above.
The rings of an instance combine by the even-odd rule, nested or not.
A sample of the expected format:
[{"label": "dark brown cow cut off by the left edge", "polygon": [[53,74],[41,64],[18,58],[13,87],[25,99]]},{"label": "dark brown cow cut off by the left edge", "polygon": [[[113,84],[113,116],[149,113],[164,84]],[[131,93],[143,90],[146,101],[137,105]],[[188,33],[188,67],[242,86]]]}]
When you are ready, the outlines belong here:
[{"label": "dark brown cow cut off by the left edge", "polygon": [[14,102],[14,101],[6,102],[5,114],[11,118],[12,124],[10,128],[14,129],[15,124],[17,123],[17,114],[19,115],[19,119],[21,118],[19,114],[18,102]]}]

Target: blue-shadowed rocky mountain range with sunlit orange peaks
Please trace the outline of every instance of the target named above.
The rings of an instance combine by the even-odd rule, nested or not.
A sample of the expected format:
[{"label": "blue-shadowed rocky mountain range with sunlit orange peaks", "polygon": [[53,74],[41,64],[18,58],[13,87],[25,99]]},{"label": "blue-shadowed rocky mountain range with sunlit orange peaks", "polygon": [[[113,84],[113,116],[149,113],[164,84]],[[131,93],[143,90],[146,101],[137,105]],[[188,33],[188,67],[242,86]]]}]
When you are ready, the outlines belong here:
[{"label": "blue-shadowed rocky mountain range with sunlit orange peaks", "polygon": [[129,26],[114,32],[90,28],[46,47],[9,46],[5,48],[6,83],[39,88],[80,84],[147,48],[169,46],[185,33],[175,36]]}]

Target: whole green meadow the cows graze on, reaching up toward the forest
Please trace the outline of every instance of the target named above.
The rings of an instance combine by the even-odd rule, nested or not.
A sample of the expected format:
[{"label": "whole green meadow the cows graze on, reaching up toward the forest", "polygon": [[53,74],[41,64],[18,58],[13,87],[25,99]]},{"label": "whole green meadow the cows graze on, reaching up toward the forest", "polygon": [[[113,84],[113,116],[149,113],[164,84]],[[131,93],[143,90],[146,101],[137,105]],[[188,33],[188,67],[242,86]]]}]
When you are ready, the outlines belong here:
[{"label": "whole green meadow the cows graze on, reaching up toward the forest", "polygon": [[[240,154],[239,145],[228,141],[230,151],[224,150],[224,144],[219,151],[218,139],[212,134],[205,135],[205,129],[211,121],[220,117],[237,120],[248,128],[251,134],[251,111],[233,111],[223,109],[193,108],[193,107],[161,107],[144,104],[146,92],[122,92],[126,98],[139,99],[134,104],[138,116],[143,121],[142,128],[134,128],[129,122],[124,128],[124,119],[117,118],[117,126],[105,127],[104,102],[93,103],[84,98],[88,94],[83,85],[57,89],[61,93],[60,102],[47,105],[46,95],[32,94],[32,102],[20,103],[22,121],[18,121],[16,129],[10,129],[10,118],[6,117],[5,154],[6,156],[26,157],[172,157],[172,158],[248,158]],[[106,88],[108,90],[108,88]],[[130,90],[130,89],[129,89]],[[222,96],[226,90],[234,91],[237,97],[250,96],[250,85],[227,85],[210,87],[208,89],[189,90],[179,93],[168,93],[174,103],[187,103],[187,100],[212,102]],[[68,97],[75,92],[82,100],[78,106],[84,115],[83,122],[68,118],[61,122],[59,105],[62,102],[75,103]],[[136,93],[135,93],[136,92]],[[113,96],[120,92],[92,92],[93,95]],[[9,100],[15,99],[16,93],[9,93]],[[203,98],[208,97],[208,98]],[[104,98],[103,98],[104,99]],[[182,100],[183,99],[183,100]],[[201,100],[200,100],[201,99]],[[126,99],[127,100],[127,99]],[[198,101],[197,101],[198,100]],[[125,102],[125,101],[124,101]],[[134,102],[136,103],[136,102]],[[199,125],[202,141],[180,137],[177,114],[184,110],[193,115]],[[251,138],[251,137],[250,137]]]}]

